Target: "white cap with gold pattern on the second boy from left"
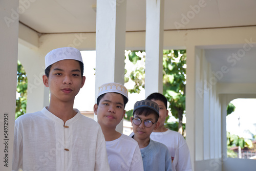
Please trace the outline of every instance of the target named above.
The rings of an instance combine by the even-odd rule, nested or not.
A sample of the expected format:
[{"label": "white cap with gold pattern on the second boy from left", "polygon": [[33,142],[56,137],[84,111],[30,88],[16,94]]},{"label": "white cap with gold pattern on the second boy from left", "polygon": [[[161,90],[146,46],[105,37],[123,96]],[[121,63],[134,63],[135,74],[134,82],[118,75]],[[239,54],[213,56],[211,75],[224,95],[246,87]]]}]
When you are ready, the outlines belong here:
[{"label": "white cap with gold pattern on the second boy from left", "polygon": [[124,97],[126,97],[127,101],[128,101],[128,91],[127,89],[119,83],[116,82],[109,82],[109,83],[105,83],[102,86],[99,87],[99,93],[97,98],[105,93],[119,93],[121,95],[123,95]]}]

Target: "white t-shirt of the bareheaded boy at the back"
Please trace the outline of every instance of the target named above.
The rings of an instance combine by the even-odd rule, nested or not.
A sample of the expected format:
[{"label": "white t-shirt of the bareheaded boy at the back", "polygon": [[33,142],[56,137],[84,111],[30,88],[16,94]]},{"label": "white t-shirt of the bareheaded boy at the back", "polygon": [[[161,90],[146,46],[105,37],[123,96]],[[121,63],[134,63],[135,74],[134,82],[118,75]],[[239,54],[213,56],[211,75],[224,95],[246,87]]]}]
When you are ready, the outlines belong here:
[{"label": "white t-shirt of the bareheaded boy at the back", "polygon": [[189,149],[180,133],[172,130],[163,133],[152,132],[150,138],[168,147],[173,159],[173,171],[192,170]]}]

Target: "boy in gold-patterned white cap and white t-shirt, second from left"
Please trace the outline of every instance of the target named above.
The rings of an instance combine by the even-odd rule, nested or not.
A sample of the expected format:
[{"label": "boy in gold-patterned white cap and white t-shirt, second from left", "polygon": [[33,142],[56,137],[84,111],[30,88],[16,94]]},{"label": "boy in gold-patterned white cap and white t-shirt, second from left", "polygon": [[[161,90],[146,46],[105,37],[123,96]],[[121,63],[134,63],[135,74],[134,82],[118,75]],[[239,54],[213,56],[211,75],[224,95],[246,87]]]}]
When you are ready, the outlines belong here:
[{"label": "boy in gold-patterned white cap and white t-shirt, second from left", "polygon": [[127,89],[122,84],[105,83],[99,88],[94,113],[105,137],[110,169],[143,171],[138,143],[116,131],[116,126],[125,114],[127,101]]}]

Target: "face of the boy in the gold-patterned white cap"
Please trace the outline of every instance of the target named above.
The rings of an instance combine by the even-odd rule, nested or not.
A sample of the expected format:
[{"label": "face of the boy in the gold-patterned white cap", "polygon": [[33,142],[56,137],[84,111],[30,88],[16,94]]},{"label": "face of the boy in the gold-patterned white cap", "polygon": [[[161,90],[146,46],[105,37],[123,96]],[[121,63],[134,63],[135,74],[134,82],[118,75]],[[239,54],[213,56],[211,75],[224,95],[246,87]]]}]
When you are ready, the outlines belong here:
[{"label": "face of the boy in the gold-patterned white cap", "polygon": [[99,105],[94,105],[94,113],[100,126],[115,129],[125,114],[123,96],[119,93],[106,93]]}]

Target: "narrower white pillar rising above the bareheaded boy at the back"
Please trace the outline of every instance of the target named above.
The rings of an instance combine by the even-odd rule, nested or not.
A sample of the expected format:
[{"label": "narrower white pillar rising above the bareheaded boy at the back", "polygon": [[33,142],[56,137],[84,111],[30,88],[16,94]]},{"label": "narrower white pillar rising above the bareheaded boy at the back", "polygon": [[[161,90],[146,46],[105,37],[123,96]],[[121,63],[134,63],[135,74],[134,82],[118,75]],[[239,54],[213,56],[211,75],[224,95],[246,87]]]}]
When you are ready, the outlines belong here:
[{"label": "narrower white pillar rising above the bareheaded boy at the back", "polygon": [[163,92],[164,0],[146,0],[145,97]]}]

